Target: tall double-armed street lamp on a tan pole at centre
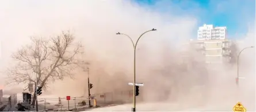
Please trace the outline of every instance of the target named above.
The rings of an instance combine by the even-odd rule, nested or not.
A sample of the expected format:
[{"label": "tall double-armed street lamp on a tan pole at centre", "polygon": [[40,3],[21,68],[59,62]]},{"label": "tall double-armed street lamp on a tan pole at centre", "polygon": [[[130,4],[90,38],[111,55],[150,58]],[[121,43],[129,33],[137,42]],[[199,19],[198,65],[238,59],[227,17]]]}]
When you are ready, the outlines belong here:
[{"label": "tall double-armed street lamp on a tan pole at centre", "polygon": [[[149,32],[149,31],[156,31],[156,29],[152,29],[152,30],[148,30],[146,32],[144,32],[142,35],[144,35],[145,33]],[[140,37],[142,37],[142,35],[140,35],[140,37],[137,39],[136,43],[134,43],[132,41],[132,38],[129,37],[129,35],[127,34],[122,34],[122,33],[116,33],[117,35],[126,35],[132,42],[133,45],[133,49],[134,49],[134,75],[133,75],[133,107],[132,107],[132,111],[136,111],[136,97],[135,97],[135,83],[136,83],[136,46],[137,46],[137,42],[139,41]]]}]

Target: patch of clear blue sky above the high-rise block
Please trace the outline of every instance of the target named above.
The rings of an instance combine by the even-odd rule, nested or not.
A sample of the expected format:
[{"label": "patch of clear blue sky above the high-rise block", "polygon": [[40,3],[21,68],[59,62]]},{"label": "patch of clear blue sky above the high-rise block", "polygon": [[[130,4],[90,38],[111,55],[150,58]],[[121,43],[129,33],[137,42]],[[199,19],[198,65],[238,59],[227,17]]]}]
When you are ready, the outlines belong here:
[{"label": "patch of clear blue sky above the high-rise block", "polygon": [[[172,14],[191,15],[204,23],[227,26],[230,37],[239,37],[253,28],[255,0],[133,0],[140,6]],[[160,3],[162,2],[162,4]]]}]

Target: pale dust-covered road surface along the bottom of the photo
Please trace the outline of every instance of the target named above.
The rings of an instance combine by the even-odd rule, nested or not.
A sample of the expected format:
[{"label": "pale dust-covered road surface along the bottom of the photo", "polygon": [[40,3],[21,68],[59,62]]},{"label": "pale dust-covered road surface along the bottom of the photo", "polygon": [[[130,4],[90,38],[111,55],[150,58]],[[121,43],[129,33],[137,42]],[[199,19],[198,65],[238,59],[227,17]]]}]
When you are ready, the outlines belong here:
[{"label": "pale dust-covered road surface along the bottom of the photo", "polygon": [[[235,105],[236,102],[234,102]],[[87,111],[131,111],[132,104],[100,107]],[[227,103],[219,103],[216,105],[206,106],[185,106],[178,103],[138,103],[136,111],[232,111],[233,105]],[[248,107],[247,111],[254,111]]]}]

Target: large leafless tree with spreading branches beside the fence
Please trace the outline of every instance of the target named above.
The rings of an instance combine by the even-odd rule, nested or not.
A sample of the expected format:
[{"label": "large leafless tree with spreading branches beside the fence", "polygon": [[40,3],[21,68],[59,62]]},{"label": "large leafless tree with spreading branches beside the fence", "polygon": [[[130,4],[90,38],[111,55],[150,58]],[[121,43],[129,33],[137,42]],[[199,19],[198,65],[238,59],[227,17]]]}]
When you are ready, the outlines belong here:
[{"label": "large leafless tree with spreading branches beside the fence", "polygon": [[[63,31],[61,35],[50,39],[31,38],[31,45],[22,47],[12,55],[17,63],[7,69],[7,84],[28,85],[37,82],[38,86],[46,90],[49,81],[62,80],[64,77],[72,78],[72,70],[80,62],[76,56],[82,53],[82,46],[79,43],[74,44],[74,39],[69,31]],[[36,96],[35,92],[33,96]],[[36,97],[33,97],[33,105],[35,99]]]}]

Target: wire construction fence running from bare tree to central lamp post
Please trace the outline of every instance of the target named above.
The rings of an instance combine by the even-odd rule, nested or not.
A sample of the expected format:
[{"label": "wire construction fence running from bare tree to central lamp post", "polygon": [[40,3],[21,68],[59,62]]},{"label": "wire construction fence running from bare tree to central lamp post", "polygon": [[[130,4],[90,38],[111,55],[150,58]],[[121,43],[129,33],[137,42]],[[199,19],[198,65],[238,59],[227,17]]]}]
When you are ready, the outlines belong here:
[{"label": "wire construction fence running from bare tree to central lamp post", "polygon": [[133,90],[128,91],[114,91],[102,94],[91,94],[88,97],[70,97],[68,101],[66,98],[39,98],[37,99],[39,110],[67,110],[67,109],[81,109],[91,106],[106,106],[118,105],[124,103],[131,103]]}]

